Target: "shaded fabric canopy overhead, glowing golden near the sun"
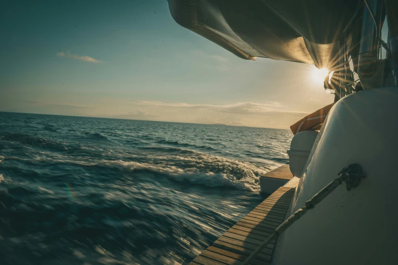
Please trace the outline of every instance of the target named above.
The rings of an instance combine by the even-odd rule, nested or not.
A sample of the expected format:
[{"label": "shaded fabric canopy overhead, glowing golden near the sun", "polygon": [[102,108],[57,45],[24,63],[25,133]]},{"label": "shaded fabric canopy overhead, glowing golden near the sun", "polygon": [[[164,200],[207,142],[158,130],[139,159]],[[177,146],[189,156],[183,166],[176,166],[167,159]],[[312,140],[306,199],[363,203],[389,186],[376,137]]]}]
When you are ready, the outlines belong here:
[{"label": "shaded fabric canopy overhead, glowing golden near the sun", "polygon": [[174,20],[244,59],[334,69],[360,0],[169,0]]}]

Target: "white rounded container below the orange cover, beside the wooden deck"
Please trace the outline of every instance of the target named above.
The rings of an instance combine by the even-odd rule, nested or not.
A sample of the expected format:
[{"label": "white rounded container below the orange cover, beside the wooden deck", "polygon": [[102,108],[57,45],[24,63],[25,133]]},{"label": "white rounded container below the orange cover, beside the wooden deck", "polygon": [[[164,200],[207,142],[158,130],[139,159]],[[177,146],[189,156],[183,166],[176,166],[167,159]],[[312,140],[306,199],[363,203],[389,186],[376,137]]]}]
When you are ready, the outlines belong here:
[{"label": "white rounded container below the orange cover, beside the wooden deck", "polygon": [[289,155],[290,172],[293,176],[298,178],[301,177],[304,165],[308,160],[317,136],[318,131],[304,130],[293,137],[290,143],[290,150],[287,151]]}]

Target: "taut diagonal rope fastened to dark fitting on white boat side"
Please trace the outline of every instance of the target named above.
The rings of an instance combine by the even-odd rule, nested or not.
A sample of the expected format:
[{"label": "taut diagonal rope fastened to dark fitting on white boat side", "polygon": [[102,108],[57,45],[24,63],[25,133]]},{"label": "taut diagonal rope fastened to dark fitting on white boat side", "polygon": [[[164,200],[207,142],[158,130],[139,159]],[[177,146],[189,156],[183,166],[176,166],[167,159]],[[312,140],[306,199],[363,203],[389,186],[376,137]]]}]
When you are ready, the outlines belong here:
[{"label": "taut diagonal rope fastened to dark fitting on white boat side", "polygon": [[305,202],[305,206],[294,212],[288,219],[286,219],[280,226],[272,233],[257,249],[246,259],[242,265],[247,265],[271,242],[272,239],[281,235],[287,228],[289,228],[295,221],[300,219],[307,211],[314,209],[314,207],[322,202],[322,200],[329,195],[335,188],[343,184],[347,185],[347,190],[355,188],[359,185],[360,180],[365,177],[362,174],[362,168],[359,164],[350,164],[348,168],[344,168],[338,173],[340,176],[321,189],[309,201]]}]

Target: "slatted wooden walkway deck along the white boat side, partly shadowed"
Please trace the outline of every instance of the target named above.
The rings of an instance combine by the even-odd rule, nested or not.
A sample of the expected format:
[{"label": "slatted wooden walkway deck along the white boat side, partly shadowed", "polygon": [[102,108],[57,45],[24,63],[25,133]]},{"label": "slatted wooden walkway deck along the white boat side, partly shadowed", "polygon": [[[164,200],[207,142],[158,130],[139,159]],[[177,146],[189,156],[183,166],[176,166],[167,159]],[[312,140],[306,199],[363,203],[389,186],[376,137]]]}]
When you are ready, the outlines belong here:
[{"label": "slatted wooden walkway deck along the white boat side, partly shadowed", "polygon": [[[294,188],[280,187],[227,230],[213,246],[191,261],[191,265],[241,264],[286,218]],[[251,264],[269,264],[277,239]]]}]

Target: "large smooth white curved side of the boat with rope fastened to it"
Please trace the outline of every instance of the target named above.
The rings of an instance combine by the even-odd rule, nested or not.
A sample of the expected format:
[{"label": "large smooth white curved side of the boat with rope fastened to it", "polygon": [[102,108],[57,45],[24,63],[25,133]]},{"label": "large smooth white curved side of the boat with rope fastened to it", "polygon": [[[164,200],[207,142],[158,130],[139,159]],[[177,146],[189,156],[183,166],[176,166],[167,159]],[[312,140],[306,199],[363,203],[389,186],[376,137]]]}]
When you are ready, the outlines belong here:
[{"label": "large smooth white curved side of the boat with rope fastened to it", "polygon": [[351,163],[366,179],[345,184],[285,233],[273,264],[398,264],[398,88],[361,91],[331,109],[293,198],[290,215]]}]

